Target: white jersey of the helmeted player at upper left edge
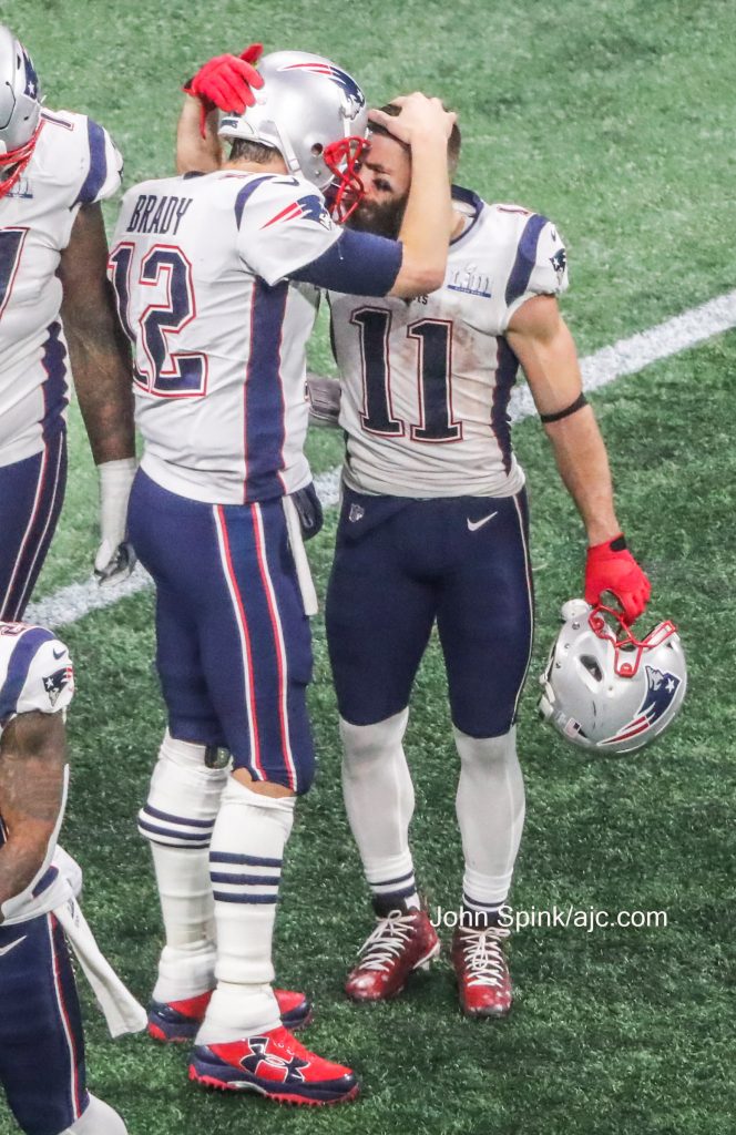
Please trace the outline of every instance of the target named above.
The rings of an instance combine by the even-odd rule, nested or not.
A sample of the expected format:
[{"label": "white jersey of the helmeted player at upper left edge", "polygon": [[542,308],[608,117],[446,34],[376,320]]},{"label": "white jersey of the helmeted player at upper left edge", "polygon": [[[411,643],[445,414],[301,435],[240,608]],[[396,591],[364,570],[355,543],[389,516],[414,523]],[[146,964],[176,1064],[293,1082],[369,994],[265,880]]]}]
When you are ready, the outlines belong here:
[{"label": "white jersey of the helmeted player at upper left edge", "polygon": [[56,275],[82,204],[111,196],[122,158],[84,115],[42,111],[33,157],[0,197],[0,465],[40,453],[68,402]]}]

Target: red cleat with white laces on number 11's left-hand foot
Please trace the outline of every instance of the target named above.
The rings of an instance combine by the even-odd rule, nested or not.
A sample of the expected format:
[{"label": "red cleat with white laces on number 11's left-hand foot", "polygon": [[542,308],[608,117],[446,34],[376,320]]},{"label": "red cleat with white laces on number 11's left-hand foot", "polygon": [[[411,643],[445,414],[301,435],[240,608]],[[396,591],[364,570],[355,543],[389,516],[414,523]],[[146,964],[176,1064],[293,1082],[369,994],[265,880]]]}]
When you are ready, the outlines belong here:
[{"label": "red cleat with white laces on number 11's left-hand foot", "polygon": [[427,969],[440,953],[440,939],[426,910],[393,910],[379,918],[350,970],[345,993],[353,1001],[386,1001],[401,993],[415,969]]}]

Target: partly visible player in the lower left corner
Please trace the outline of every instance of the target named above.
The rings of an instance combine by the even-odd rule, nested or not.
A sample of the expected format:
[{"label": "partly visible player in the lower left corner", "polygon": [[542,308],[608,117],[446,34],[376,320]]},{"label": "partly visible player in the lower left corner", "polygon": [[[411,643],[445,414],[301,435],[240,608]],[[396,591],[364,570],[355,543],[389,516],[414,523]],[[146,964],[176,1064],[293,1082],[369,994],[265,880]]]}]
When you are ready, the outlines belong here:
[{"label": "partly visible player in the lower left corner", "polygon": [[[82,873],[56,843],[73,691],[62,642],[41,627],[0,622],[0,1084],[27,1135],[125,1135],[119,1115],[86,1087],[61,925],[73,911],[90,938],[74,910]],[[77,933],[72,924],[70,931]],[[98,957],[94,965],[99,974],[107,964]],[[129,994],[124,998],[143,1012]],[[118,1031],[144,1020],[136,1022],[134,1011],[132,1026]]]}]

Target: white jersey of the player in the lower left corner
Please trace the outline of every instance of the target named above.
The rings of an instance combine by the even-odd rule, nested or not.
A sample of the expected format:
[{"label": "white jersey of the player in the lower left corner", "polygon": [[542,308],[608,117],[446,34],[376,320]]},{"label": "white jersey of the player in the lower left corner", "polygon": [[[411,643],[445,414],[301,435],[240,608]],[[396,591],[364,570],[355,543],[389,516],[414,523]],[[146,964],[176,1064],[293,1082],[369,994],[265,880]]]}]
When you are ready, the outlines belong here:
[{"label": "white jersey of the player in the lower left corner", "polygon": [[[73,695],[74,669],[64,642],[42,627],[0,622],[0,738],[18,714],[61,713]],[[23,922],[52,910],[66,896],[69,878],[78,875],[74,860],[57,847],[62,818],[64,801],[41,868],[20,894],[3,902],[3,920]],[[0,847],[5,840],[0,796]]]}]

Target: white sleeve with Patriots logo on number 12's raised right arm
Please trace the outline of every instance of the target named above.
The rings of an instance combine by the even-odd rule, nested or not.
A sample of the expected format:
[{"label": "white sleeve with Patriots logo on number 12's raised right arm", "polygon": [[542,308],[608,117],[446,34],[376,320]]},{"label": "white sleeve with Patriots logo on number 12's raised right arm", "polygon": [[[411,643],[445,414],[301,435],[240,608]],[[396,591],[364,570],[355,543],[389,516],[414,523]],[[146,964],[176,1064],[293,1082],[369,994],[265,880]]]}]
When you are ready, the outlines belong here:
[{"label": "white sleeve with Patriots logo on number 12's raised right arm", "polygon": [[239,195],[235,213],[241,260],[270,286],[317,260],[341,234],[321,193],[296,177],[251,180]]}]

